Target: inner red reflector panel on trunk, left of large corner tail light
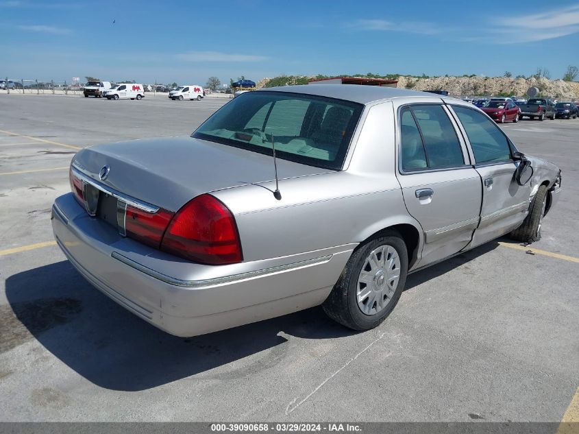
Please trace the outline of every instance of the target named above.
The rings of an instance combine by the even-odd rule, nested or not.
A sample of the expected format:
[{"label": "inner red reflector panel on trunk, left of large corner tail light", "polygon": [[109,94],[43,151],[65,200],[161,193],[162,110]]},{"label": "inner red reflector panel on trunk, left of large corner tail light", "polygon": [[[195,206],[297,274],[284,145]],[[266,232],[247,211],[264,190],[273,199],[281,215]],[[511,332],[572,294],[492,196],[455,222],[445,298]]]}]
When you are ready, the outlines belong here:
[{"label": "inner red reflector panel on trunk, left of large corner tail light", "polygon": [[151,214],[127,205],[125,232],[127,237],[158,249],[173,213],[160,208]]}]

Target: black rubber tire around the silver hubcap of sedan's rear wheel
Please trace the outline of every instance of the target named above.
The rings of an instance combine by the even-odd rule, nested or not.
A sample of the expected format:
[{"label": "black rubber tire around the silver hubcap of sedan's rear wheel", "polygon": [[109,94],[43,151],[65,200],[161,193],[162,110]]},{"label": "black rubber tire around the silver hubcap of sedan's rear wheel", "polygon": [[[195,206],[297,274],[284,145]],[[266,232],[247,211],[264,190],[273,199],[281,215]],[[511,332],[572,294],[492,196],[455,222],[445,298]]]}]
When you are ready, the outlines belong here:
[{"label": "black rubber tire around the silver hubcap of sedan's rear wheel", "polygon": [[[357,287],[358,275],[362,271],[369,254],[380,245],[393,247],[400,260],[400,274],[397,287],[390,297],[390,300],[381,311],[373,315],[362,313],[358,306]],[[396,306],[408,274],[408,252],[406,244],[395,231],[384,232],[380,237],[376,237],[360,245],[352,256],[350,256],[344,270],[334,285],[330,296],[323,302],[323,311],[332,320],[339,322],[343,326],[354,330],[369,330],[379,326]]]}]

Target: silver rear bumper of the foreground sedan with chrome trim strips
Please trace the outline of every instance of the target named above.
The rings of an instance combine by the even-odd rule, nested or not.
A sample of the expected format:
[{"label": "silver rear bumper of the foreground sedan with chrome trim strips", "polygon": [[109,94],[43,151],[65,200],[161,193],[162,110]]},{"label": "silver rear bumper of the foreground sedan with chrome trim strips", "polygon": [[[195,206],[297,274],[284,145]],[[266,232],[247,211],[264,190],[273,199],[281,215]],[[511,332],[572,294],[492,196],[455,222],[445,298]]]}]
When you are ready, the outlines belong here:
[{"label": "silver rear bumper of the foreground sedan with chrome trim strips", "polygon": [[71,193],[52,208],[54,237],[93,286],[154,326],[195,336],[321,304],[355,246],[224,266],[189,263],[120,237]]}]

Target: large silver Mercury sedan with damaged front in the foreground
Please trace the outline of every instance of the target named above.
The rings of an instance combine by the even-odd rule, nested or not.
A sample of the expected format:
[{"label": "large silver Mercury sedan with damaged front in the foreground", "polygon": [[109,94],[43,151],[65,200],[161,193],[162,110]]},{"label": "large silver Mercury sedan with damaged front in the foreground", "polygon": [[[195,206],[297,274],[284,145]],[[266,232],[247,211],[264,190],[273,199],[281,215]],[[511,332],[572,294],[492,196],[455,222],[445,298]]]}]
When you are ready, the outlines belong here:
[{"label": "large silver Mercury sedan with damaged front in the foreground", "polygon": [[232,99],[190,137],[80,150],[52,226],[90,283],[173,335],[318,304],[367,330],[409,272],[539,239],[560,180],[459,99],[285,86]]}]

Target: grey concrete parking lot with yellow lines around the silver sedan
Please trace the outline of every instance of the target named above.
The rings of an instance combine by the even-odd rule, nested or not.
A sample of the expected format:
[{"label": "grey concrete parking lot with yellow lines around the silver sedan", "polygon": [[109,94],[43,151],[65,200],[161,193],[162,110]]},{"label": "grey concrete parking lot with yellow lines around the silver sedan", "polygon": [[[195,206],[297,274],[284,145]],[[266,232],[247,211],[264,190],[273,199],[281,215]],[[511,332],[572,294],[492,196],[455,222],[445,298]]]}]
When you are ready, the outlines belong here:
[{"label": "grey concrete parking lot with yellow lines around the silver sedan", "polygon": [[315,308],[183,339],[93,289],[49,221],[73,154],[190,134],[226,101],[0,95],[0,420],[578,417],[579,120],[501,125],[563,169],[543,239],[500,239],[412,274],[375,330]]}]

